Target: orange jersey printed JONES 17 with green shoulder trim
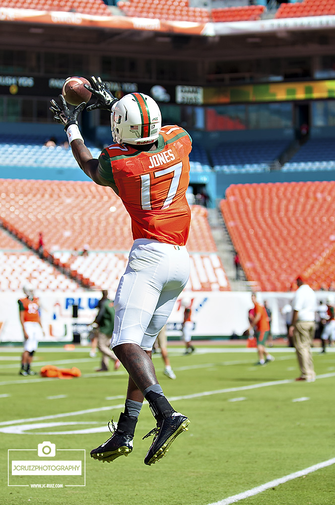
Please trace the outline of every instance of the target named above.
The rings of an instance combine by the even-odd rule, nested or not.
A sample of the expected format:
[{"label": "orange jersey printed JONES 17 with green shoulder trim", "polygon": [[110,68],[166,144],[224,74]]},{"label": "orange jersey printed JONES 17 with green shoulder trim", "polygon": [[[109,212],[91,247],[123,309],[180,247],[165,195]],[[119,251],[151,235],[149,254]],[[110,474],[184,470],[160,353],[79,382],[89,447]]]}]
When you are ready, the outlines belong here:
[{"label": "orange jersey printed JONES 17 with green shoulder trim", "polygon": [[102,150],[99,174],[118,187],[134,240],[185,245],[191,221],[185,195],[191,148],[191,137],[183,128],[164,126],[153,151],[120,144]]}]

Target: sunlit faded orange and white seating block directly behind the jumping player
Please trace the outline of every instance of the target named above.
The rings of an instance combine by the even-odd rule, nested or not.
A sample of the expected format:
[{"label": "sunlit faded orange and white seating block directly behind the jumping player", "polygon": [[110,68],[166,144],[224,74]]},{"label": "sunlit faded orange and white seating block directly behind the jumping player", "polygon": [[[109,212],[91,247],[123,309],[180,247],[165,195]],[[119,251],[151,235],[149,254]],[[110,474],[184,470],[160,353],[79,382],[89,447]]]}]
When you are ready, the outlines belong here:
[{"label": "sunlit faded orange and white seating block directly behind the jumping player", "polygon": [[[46,257],[75,278],[116,289],[133,238],[129,215],[110,188],[89,181],[2,179],[0,195],[0,220],[8,230],[34,247],[42,232]],[[84,248],[88,256],[81,254]],[[193,265],[190,289],[230,290],[201,206],[192,206],[187,248]]]}]

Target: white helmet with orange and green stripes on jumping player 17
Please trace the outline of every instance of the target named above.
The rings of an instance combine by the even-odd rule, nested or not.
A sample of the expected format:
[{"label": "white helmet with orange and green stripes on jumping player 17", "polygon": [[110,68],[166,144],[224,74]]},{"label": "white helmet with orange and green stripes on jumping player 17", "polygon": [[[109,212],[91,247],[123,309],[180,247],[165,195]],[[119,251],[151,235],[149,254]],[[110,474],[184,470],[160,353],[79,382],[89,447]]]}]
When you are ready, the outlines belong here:
[{"label": "white helmet with orange and green stripes on jumping player 17", "polygon": [[113,140],[118,144],[150,144],[158,138],[161,113],[151,96],[130,93],[115,104],[110,121]]}]

